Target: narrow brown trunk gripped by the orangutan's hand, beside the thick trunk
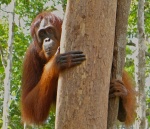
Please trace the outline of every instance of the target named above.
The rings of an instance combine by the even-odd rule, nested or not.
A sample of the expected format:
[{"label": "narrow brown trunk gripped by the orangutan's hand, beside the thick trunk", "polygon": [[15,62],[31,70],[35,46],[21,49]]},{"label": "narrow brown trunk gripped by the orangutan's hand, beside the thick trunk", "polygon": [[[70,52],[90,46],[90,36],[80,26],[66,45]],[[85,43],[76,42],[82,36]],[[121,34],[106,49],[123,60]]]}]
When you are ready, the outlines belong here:
[{"label": "narrow brown trunk gripped by the orangutan's hand, beside the thick trunk", "polygon": [[[122,80],[122,71],[125,62],[125,46],[128,25],[128,15],[131,0],[118,0],[116,15],[116,32],[114,44],[114,57],[112,66],[112,79]],[[116,129],[119,99],[109,100],[108,129]]]}]

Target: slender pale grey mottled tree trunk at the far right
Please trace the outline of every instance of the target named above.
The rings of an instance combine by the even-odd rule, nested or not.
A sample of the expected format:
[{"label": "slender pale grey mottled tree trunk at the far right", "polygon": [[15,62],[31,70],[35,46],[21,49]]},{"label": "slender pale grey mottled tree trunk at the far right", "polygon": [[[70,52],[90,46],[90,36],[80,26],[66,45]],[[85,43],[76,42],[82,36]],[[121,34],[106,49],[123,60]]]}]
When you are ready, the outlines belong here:
[{"label": "slender pale grey mottled tree trunk at the far right", "polygon": [[135,60],[135,80],[138,94],[138,120],[136,129],[146,129],[146,93],[145,93],[145,30],[144,30],[144,0],[139,0],[138,4],[138,44],[137,59]]}]

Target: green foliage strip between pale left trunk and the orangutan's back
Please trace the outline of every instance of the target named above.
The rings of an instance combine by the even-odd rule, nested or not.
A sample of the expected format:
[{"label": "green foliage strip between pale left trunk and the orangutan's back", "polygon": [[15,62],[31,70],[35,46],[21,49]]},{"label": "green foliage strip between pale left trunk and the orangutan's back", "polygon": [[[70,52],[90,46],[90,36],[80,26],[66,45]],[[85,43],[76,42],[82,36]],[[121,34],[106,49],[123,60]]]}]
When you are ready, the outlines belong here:
[{"label": "green foliage strip between pale left trunk and the orangutan's back", "polygon": [[10,103],[10,126],[15,129],[21,129],[22,127],[20,114],[21,71],[23,57],[27,49],[28,43],[29,37],[24,36],[22,30],[15,26]]}]

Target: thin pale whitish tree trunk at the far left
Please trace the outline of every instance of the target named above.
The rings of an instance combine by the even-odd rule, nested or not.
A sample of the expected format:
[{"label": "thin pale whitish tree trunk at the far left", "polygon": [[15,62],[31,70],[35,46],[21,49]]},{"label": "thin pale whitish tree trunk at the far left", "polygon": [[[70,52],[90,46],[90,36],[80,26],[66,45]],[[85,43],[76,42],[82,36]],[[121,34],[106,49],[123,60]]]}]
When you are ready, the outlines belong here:
[{"label": "thin pale whitish tree trunk at the far left", "polygon": [[11,12],[9,14],[9,39],[8,39],[8,57],[7,66],[5,68],[5,79],[4,79],[4,102],[3,102],[3,126],[2,129],[8,128],[9,122],[9,103],[10,103],[10,82],[11,82],[11,71],[12,71],[12,51],[14,41],[14,9],[15,0],[10,3]]}]

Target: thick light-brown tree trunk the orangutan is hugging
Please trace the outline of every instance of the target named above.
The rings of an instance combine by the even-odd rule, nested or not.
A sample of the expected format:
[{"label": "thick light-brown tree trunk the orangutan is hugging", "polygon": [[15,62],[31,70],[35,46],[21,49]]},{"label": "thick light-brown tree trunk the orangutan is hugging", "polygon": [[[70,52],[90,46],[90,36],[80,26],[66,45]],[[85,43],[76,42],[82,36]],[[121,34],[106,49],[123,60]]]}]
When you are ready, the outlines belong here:
[{"label": "thick light-brown tree trunk the orangutan is hugging", "polygon": [[81,50],[87,60],[58,81],[56,129],[106,129],[117,0],[69,0],[61,53]]}]

